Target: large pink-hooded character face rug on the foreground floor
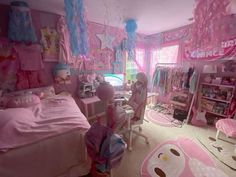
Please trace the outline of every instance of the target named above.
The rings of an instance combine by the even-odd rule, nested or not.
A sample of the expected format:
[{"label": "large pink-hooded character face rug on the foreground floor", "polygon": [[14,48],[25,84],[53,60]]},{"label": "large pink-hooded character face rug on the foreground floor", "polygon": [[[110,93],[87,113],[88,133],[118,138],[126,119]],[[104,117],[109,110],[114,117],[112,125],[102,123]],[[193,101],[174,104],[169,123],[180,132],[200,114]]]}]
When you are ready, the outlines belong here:
[{"label": "large pink-hooded character face rug on the foreground floor", "polygon": [[209,155],[187,138],[166,141],[144,160],[142,177],[227,177]]}]

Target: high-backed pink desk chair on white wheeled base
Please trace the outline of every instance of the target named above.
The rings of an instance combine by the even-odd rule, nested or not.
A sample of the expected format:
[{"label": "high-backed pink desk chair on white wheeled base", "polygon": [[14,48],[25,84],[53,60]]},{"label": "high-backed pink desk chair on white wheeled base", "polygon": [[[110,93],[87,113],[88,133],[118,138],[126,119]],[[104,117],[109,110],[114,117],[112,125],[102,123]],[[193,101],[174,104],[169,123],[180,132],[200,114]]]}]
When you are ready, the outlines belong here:
[{"label": "high-backed pink desk chair on white wheeled base", "polygon": [[[137,81],[132,85],[132,95],[128,100],[127,105],[122,106],[126,114],[127,129],[123,126],[122,133],[129,133],[129,146],[128,149],[132,150],[132,134],[136,134],[145,139],[148,144],[148,137],[141,133],[141,125],[144,121],[144,113],[147,102],[147,76],[144,73],[138,73],[136,75]],[[138,128],[139,131],[135,130]]]}]

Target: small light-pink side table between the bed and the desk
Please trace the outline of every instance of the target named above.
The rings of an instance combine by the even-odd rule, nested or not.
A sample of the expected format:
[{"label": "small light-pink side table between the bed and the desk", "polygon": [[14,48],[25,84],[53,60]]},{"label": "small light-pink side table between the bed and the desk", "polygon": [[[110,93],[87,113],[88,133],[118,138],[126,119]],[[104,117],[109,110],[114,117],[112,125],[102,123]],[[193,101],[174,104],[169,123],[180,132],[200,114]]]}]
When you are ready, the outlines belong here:
[{"label": "small light-pink side table between the bed and the desk", "polygon": [[[83,99],[80,99],[80,101],[81,101],[83,108],[84,108],[83,113],[85,114],[85,116],[87,117],[88,120],[96,118],[96,116],[105,115],[105,109],[98,114],[95,113],[95,103],[98,103],[101,101],[97,96],[93,96],[90,98],[83,98]],[[92,114],[90,116],[89,116],[89,105],[91,105],[91,114]]]}]

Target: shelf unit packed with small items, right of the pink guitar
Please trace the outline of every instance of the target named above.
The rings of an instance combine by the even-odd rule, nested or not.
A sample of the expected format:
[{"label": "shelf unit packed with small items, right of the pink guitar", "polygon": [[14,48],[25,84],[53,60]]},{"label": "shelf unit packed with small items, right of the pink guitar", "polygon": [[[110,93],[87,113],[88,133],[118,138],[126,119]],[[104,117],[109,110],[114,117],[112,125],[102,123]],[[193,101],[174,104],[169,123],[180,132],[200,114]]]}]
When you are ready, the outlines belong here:
[{"label": "shelf unit packed with small items, right of the pink guitar", "polygon": [[[228,93],[230,96],[227,95]],[[227,118],[227,109],[229,108],[234,95],[235,86],[233,85],[201,83],[201,108],[205,109],[209,114],[213,114],[221,118]],[[220,109],[220,107],[222,109]]]}]

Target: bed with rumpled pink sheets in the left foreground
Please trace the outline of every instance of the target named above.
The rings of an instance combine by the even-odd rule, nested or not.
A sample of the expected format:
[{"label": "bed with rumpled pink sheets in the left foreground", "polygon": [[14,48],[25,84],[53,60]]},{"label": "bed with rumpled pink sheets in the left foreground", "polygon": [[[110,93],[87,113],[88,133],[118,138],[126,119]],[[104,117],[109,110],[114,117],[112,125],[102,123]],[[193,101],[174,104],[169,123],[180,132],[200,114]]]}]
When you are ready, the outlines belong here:
[{"label": "bed with rumpled pink sheets in the left foreground", "polygon": [[[35,94],[32,95],[35,98]],[[16,101],[18,96],[11,98]],[[0,176],[78,177],[88,174],[90,160],[84,134],[90,125],[74,99],[65,94],[49,94],[38,102],[25,100],[24,106],[19,107],[24,101],[18,99],[18,106],[13,104],[0,111]],[[36,103],[31,103],[32,100]]]}]

